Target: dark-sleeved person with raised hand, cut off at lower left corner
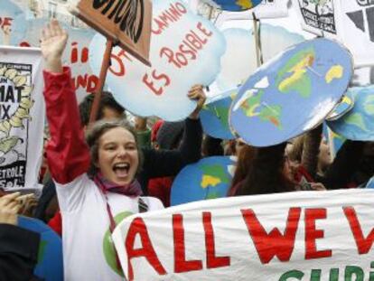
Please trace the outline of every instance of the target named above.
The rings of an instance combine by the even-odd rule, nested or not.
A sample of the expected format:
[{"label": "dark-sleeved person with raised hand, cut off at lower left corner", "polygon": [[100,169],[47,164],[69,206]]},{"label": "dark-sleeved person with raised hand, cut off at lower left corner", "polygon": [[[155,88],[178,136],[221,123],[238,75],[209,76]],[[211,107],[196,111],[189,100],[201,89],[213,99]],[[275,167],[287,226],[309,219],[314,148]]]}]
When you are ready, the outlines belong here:
[{"label": "dark-sleeved person with raised hand, cut off at lower left corner", "polygon": [[33,276],[40,235],[17,227],[19,192],[0,197],[0,281],[38,280]]}]

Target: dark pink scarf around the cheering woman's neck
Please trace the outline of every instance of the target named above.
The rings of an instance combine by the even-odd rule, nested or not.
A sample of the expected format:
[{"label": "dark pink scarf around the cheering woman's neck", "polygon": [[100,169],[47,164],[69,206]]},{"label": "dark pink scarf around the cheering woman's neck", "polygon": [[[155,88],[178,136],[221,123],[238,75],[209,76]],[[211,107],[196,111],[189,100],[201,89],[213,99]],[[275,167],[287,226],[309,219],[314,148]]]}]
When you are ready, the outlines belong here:
[{"label": "dark pink scarf around the cheering woman's neck", "polygon": [[137,197],[143,195],[142,188],[140,187],[140,183],[137,180],[134,180],[132,183],[126,185],[117,185],[116,183],[109,182],[106,178],[103,177],[101,173],[97,173],[93,177],[93,181],[104,193],[115,192],[129,197]]}]

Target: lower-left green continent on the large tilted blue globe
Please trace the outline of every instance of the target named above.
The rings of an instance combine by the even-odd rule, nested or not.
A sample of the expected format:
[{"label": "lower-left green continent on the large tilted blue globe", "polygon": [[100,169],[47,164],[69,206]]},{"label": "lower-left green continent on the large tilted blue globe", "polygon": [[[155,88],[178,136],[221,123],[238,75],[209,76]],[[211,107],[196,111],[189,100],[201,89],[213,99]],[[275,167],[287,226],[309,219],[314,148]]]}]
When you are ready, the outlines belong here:
[{"label": "lower-left green continent on the large tilted blue globe", "polygon": [[[248,93],[248,98],[241,104],[240,108],[244,111],[247,117],[259,117],[261,121],[270,122],[277,128],[282,129],[280,117],[282,115],[282,108],[280,106],[268,106],[261,101],[264,95],[264,90],[259,90],[258,93]],[[258,108],[260,108],[258,110]]]}]

